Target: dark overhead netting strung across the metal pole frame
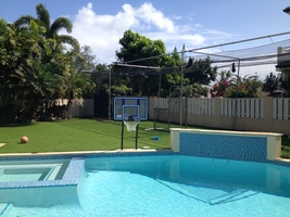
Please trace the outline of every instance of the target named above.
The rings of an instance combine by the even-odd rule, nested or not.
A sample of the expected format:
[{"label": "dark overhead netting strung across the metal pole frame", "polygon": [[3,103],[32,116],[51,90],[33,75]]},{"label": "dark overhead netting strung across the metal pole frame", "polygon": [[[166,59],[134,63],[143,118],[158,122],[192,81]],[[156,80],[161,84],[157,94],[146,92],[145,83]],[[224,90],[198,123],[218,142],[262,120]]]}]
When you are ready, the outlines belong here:
[{"label": "dark overhead netting strung across the metal pole frame", "polygon": [[[273,42],[273,38],[275,40],[279,40],[279,37],[283,37],[282,40]],[[255,46],[255,47],[250,47],[245,48],[248,44],[253,44],[253,43],[259,43],[261,41],[261,38],[263,38],[263,43],[262,46]],[[269,40],[270,39],[270,40]],[[228,50],[225,51],[226,49],[232,48],[231,43],[228,44],[216,44],[212,46],[211,49],[191,49],[191,50],[186,50],[184,52],[184,61],[187,62],[189,58],[197,60],[204,60],[207,56],[212,61],[212,67],[217,67],[218,69],[222,71],[227,71],[230,69],[231,64],[236,62],[239,62],[239,67],[242,69],[242,73],[270,73],[270,71],[276,71],[275,65],[277,64],[278,58],[283,55],[278,53],[278,48],[289,48],[290,47],[290,33],[285,33],[285,34],[277,34],[272,37],[260,37],[256,39],[249,39],[241,41],[241,42],[232,42],[235,43],[235,48],[242,48],[242,49],[235,49],[235,50]],[[267,41],[267,42],[265,42]],[[272,41],[272,42],[270,42]],[[261,44],[261,42],[260,42]],[[222,51],[220,51],[222,50]],[[178,52],[181,55],[181,52]],[[173,53],[168,53],[166,55],[172,55]],[[289,53],[288,53],[289,55]],[[146,67],[146,65],[150,65],[152,67],[156,67],[155,65],[151,65],[151,60],[154,58],[160,58],[159,56],[148,56],[144,59],[140,60],[133,60],[128,61],[126,64],[131,64],[131,65],[144,65],[144,67],[134,67],[134,66],[114,66],[111,76],[112,77],[122,77],[122,78],[130,78],[130,77],[140,77],[140,78],[147,78],[149,76],[160,76],[164,74],[174,74],[174,73],[179,73],[181,66],[176,66],[176,67],[162,67],[162,68],[150,68]],[[124,63],[123,63],[124,64]],[[267,67],[267,66],[272,67]],[[252,69],[253,66],[265,66],[265,67],[260,67],[260,71],[255,67]],[[266,69],[265,69],[266,68]],[[268,72],[265,72],[268,71]],[[192,73],[192,71],[189,69],[184,69],[184,74],[187,73]],[[109,76],[109,73],[98,73],[98,76]]]}]

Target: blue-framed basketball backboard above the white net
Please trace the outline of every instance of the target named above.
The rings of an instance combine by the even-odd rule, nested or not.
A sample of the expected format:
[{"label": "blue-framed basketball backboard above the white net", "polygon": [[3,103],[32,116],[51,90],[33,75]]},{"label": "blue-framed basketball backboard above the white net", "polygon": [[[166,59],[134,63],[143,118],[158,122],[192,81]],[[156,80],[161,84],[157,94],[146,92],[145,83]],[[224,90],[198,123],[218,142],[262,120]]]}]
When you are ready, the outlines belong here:
[{"label": "blue-framed basketball backboard above the white net", "polygon": [[124,120],[133,116],[135,119],[148,119],[148,98],[146,97],[115,97],[114,120]]}]

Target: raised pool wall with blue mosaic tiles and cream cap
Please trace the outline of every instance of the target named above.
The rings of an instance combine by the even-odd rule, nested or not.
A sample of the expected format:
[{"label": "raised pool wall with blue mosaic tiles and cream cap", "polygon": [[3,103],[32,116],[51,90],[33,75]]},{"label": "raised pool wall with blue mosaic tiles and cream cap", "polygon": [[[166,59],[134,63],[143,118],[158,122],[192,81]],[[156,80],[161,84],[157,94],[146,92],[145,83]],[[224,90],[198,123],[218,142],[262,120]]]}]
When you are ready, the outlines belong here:
[{"label": "raised pool wall with blue mosaic tiles and cream cap", "polygon": [[290,167],[281,161],[281,133],[223,130],[171,129],[172,150],[180,155],[270,163]]}]

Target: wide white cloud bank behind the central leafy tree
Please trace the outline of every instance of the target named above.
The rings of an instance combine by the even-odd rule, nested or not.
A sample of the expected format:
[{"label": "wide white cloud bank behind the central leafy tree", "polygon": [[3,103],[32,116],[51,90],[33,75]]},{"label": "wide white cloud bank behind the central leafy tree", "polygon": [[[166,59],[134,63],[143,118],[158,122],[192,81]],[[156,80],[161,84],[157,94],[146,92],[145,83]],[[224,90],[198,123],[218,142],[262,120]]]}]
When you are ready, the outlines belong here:
[{"label": "wide white cloud bank behind the central leafy tree", "polygon": [[92,3],[88,3],[79,9],[75,16],[72,36],[80,46],[89,46],[98,62],[102,64],[116,61],[115,51],[121,48],[118,40],[127,29],[133,29],[152,40],[161,39],[167,52],[172,52],[174,47],[181,50],[184,43],[187,48],[199,48],[207,42],[206,37],[230,37],[225,33],[207,29],[201,35],[197,33],[197,27],[200,28],[201,25],[175,24],[151,3],[143,3],[139,8],[124,4],[122,11],[116,14],[97,14]]}]

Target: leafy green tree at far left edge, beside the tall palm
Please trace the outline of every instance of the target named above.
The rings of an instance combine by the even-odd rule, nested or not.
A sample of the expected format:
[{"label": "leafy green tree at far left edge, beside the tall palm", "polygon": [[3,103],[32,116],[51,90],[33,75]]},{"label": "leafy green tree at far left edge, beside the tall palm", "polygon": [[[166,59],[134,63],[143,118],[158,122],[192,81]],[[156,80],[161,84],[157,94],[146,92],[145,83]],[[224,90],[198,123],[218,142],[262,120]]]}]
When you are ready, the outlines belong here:
[{"label": "leafy green tree at far left edge, beside the tall palm", "polygon": [[0,18],[0,90],[7,102],[16,95],[14,84],[18,84],[18,80],[13,76],[15,71],[31,65],[41,55],[41,30],[34,22],[28,28],[15,28],[13,24],[7,24]]}]

